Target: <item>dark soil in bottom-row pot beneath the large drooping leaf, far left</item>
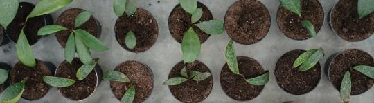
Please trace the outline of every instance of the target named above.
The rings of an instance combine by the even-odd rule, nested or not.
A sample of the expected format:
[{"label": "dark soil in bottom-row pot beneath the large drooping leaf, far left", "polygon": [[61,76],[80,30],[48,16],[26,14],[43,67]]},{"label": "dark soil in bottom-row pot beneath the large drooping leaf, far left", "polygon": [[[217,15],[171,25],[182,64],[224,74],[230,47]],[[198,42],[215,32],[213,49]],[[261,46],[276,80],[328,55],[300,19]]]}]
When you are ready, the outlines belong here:
[{"label": "dark soil in bottom-row pot beneath the large drooping leaf, far left", "polygon": [[37,60],[37,65],[35,67],[28,67],[23,65],[22,62],[17,62],[10,71],[10,82],[15,84],[27,78],[22,98],[27,100],[39,100],[48,93],[50,88],[48,84],[44,82],[43,76],[51,75],[51,71],[49,71],[48,67],[40,60]]}]

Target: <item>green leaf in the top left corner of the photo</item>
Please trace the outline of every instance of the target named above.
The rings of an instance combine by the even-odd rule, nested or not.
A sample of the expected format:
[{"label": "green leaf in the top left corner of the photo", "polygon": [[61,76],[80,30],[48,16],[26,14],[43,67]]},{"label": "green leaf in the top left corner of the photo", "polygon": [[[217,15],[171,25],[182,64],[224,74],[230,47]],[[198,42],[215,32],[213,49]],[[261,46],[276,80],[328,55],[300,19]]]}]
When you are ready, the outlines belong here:
[{"label": "green leaf in the top left corner of the photo", "polygon": [[17,14],[19,0],[0,0],[0,25],[7,28]]}]

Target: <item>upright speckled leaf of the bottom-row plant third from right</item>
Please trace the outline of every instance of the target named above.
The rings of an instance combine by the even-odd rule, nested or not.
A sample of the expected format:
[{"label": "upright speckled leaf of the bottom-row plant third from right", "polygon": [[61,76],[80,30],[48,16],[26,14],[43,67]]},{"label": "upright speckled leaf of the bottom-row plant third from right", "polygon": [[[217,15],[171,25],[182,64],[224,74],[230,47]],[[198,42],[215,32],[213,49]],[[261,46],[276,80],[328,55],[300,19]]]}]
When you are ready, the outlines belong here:
[{"label": "upright speckled leaf of the bottom-row plant third from right", "polygon": [[235,74],[240,74],[238,60],[236,59],[236,53],[233,46],[233,40],[229,41],[229,44],[227,44],[225,56],[227,65],[229,66],[230,70]]}]

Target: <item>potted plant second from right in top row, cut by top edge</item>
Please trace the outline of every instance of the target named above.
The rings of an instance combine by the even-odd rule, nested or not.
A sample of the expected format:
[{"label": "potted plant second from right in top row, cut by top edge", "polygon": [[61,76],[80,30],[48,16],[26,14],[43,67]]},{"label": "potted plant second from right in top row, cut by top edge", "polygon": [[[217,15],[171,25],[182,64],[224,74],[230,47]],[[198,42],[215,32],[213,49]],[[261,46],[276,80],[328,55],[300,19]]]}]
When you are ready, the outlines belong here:
[{"label": "potted plant second from right in top row, cut by top edge", "polygon": [[325,19],[318,0],[280,0],[276,14],[278,27],[285,36],[294,40],[317,37]]}]

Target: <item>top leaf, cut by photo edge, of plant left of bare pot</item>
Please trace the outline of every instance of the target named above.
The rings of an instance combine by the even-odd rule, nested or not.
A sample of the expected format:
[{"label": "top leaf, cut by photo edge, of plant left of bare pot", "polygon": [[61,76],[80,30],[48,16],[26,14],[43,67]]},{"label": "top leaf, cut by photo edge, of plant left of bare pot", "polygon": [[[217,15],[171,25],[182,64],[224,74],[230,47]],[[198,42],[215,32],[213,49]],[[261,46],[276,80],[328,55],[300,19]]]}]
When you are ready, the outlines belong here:
[{"label": "top leaf, cut by photo edge, of plant left of bare pot", "polygon": [[193,14],[197,9],[197,0],[179,0],[184,11]]}]

